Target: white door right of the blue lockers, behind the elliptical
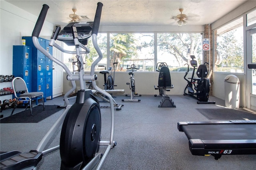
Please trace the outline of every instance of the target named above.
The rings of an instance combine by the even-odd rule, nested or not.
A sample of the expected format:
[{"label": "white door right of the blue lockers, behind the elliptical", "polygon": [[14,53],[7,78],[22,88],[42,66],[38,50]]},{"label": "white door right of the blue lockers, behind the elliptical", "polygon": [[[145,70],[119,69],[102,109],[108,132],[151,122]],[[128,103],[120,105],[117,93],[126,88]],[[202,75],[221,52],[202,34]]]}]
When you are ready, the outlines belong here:
[{"label": "white door right of the blue lockers, behind the elliptical", "polygon": [[[55,43],[63,47],[63,42],[56,40]],[[53,47],[52,53],[53,57],[63,62],[63,53],[60,50]],[[54,98],[63,93],[63,68],[55,62],[52,62],[52,65],[52,97]]]}]

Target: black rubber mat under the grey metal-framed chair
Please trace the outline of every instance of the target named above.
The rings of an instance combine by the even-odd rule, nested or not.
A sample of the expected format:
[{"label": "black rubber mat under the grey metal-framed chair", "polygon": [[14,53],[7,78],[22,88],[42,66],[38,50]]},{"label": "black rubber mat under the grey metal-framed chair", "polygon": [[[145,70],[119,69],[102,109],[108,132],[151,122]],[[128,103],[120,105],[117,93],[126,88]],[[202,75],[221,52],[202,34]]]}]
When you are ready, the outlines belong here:
[{"label": "black rubber mat under the grey metal-framed chair", "polygon": [[30,109],[16,113],[15,115],[0,119],[0,123],[38,123],[50,115],[60,111],[63,108],[57,108],[57,105],[44,105],[45,110],[43,110],[42,105],[33,107],[32,113],[30,115]]}]

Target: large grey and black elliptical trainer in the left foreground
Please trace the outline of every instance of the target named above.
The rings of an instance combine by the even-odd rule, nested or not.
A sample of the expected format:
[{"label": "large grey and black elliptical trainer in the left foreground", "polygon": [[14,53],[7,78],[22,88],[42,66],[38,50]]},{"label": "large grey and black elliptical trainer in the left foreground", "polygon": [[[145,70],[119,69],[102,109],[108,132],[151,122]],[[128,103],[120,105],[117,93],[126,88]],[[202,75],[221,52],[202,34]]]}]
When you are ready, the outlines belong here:
[{"label": "large grey and black elliptical trainer in the left foreground", "polygon": [[[98,164],[96,169],[100,169],[103,165],[106,156],[110,152],[110,149],[116,146],[114,141],[114,105],[112,97],[109,93],[106,93],[96,85],[97,75],[94,74],[94,69],[96,64],[102,59],[102,53],[97,44],[97,34],[100,24],[100,16],[102,11],[103,4],[98,2],[96,9],[96,14],[93,22],[93,26],[86,27],[88,28],[87,34],[82,34],[87,36],[87,40],[92,36],[92,42],[94,48],[96,49],[99,57],[92,63],[90,75],[84,75],[83,61],[81,54],[89,53],[90,49],[86,46],[86,41],[84,38],[78,36],[81,32],[78,32],[76,29],[76,23],[72,23],[72,26],[68,30],[62,30],[60,32],[60,27],[56,26],[49,45],[56,47],[62,52],[76,54],[78,59],[78,75],[74,75],[68,69],[68,67],[54,58],[48,51],[46,51],[40,43],[38,42],[38,37],[42,29],[47,11],[49,6],[44,4],[36,25],[32,33],[32,40],[34,45],[38,50],[40,50],[46,57],[54,61],[55,63],[61,65],[63,69],[67,72],[67,79],[72,83],[72,89],[68,93],[71,93],[75,88],[75,81],[79,80],[81,85],[81,90],[78,91],[76,97],[76,103],[70,105],[68,101],[68,93],[64,95],[64,101],[67,106],[64,112],[60,115],[58,120],[50,128],[50,130],[45,134],[42,140],[39,142],[36,150],[31,150],[30,152],[22,153],[19,151],[6,152],[0,155],[0,168],[1,170],[7,169],[36,169],[38,162],[42,159],[42,156],[53,152],[57,149],[60,149],[60,158],[61,158],[61,170],[81,170],[81,169],[92,169],[96,164]],[[80,25],[81,26],[81,25]],[[63,34],[70,34],[72,32],[72,38],[70,36],[63,36]],[[84,33],[84,32],[83,32]],[[59,36],[58,36],[59,35]],[[63,37],[62,37],[63,36]],[[76,51],[66,51],[59,45],[57,45],[55,40],[62,40],[65,42],[71,42],[73,40],[74,45],[76,46]],[[60,38],[62,37],[62,38]],[[67,38],[66,40],[63,38]],[[82,40],[83,39],[83,40]],[[80,41],[82,40],[82,41]],[[82,42],[82,43],[81,43]],[[85,49],[82,51],[81,49]],[[110,99],[111,107],[111,127],[110,127],[110,140],[102,141],[100,140],[101,132],[101,115],[100,107],[97,99],[92,95],[90,89],[85,88],[85,80],[91,80],[92,86],[100,93],[106,95]],[[63,124],[63,125],[62,125]],[[58,127],[62,125],[62,130],[60,134],[60,145],[55,146],[50,149],[44,150],[48,142],[50,142],[54,133],[58,130]],[[104,153],[99,153],[99,146],[106,146]],[[50,168],[50,167],[49,167]]]}]

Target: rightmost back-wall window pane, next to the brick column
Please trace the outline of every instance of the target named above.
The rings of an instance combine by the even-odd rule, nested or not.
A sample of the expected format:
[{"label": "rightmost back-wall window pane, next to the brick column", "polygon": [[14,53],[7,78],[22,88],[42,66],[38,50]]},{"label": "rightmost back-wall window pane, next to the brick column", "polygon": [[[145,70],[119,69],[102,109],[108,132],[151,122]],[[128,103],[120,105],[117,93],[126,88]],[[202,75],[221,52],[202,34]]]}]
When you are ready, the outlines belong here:
[{"label": "rightmost back-wall window pane, next to the brick column", "polygon": [[157,62],[167,63],[170,71],[186,71],[184,64],[189,63],[190,55],[195,55],[198,64],[202,63],[202,34],[157,34]]}]

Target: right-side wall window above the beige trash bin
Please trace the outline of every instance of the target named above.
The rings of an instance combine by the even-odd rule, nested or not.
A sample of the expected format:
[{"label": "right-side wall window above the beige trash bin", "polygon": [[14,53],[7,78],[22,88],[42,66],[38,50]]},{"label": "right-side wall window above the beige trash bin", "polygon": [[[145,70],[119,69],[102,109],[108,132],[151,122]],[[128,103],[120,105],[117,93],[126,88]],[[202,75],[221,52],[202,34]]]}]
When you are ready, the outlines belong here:
[{"label": "right-side wall window above the beige trash bin", "polygon": [[214,35],[217,38],[215,71],[244,73],[243,18],[219,28]]}]

